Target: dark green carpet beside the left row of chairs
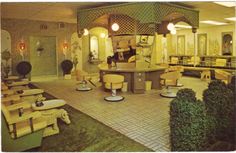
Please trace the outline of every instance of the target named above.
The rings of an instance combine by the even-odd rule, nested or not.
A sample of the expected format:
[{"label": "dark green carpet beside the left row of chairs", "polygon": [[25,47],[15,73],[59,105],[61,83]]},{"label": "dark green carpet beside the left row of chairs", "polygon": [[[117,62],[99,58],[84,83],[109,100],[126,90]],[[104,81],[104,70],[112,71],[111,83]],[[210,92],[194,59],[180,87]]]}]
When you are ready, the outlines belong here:
[{"label": "dark green carpet beside the left row of chairs", "polygon": [[[47,99],[55,97],[45,93]],[[43,138],[39,148],[29,152],[151,152],[142,144],[124,136],[92,117],[69,105],[64,108],[70,116],[71,124],[66,125],[60,119],[60,133]]]}]

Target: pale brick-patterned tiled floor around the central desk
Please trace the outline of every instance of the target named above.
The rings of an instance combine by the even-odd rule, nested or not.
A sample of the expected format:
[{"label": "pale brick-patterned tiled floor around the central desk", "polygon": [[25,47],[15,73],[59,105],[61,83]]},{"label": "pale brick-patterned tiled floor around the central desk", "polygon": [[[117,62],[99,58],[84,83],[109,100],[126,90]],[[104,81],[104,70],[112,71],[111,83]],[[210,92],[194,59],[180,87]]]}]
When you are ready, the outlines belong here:
[{"label": "pale brick-patterned tiled floor around the central desk", "polygon": [[[199,99],[207,88],[207,83],[197,78],[183,77],[180,82],[185,88],[196,91]],[[33,83],[154,151],[170,151],[168,124],[171,99],[160,97],[160,90],[145,94],[119,93],[125,100],[111,103],[103,99],[110,93],[104,92],[101,87],[89,92],[76,91],[75,79],[44,78],[34,79]]]}]

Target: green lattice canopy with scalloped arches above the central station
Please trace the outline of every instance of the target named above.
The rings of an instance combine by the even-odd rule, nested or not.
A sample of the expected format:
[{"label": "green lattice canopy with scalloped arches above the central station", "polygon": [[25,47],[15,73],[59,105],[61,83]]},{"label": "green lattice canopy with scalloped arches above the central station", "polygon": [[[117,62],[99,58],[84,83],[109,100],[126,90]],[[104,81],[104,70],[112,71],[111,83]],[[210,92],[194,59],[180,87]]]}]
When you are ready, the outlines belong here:
[{"label": "green lattice canopy with scalloped arches above the central station", "polygon": [[[174,14],[174,18],[181,17],[181,20],[188,22],[193,28],[199,27],[199,12],[196,10],[166,2],[137,2],[78,10],[79,35],[84,28],[89,29],[91,26],[96,25],[93,22],[97,18],[103,15],[111,14],[125,14],[126,17],[128,16],[131,19],[128,21],[128,18],[125,16],[123,16],[124,18],[120,18],[120,31],[115,34],[133,34],[134,32],[147,34],[152,33],[152,28],[147,26],[147,24],[161,24],[162,21],[167,20],[166,17],[170,14]],[[135,26],[133,20],[139,22],[140,24]],[[108,25],[109,24],[111,23],[108,23]],[[104,25],[103,27],[110,26]]]}]

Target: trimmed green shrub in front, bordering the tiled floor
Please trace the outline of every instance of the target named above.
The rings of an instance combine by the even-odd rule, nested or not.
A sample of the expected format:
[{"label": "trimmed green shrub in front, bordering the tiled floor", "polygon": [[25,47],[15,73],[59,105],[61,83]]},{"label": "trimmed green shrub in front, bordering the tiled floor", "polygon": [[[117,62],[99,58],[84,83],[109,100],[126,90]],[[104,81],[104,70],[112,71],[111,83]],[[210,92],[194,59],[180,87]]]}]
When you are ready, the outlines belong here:
[{"label": "trimmed green shrub in front, bordering the tiled floor", "polygon": [[181,89],[170,104],[170,140],[172,151],[204,150],[205,105],[196,100],[192,89]]}]

